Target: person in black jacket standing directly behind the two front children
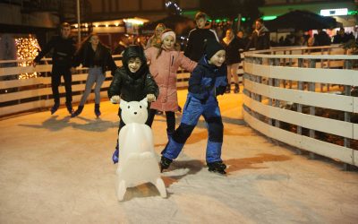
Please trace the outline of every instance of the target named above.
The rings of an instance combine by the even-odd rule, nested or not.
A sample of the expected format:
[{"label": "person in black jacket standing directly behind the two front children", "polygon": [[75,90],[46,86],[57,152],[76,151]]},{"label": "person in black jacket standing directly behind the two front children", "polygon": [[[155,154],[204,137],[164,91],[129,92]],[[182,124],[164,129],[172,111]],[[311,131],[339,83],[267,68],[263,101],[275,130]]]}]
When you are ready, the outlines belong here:
[{"label": "person in black jacket standing directly behind the two front children", "polygon": [[[207,22],[206,13],[196,13],[195,22],[197,28],[189,33],[188,43],[184,50],[184,56],[189,57],[192,61],[199,62],[201,56],[204,55],[204,43],[207,39],[217,39],[217,33],[214,30],[206,29]],[[219,42],[219,39],[217,39]]]}]

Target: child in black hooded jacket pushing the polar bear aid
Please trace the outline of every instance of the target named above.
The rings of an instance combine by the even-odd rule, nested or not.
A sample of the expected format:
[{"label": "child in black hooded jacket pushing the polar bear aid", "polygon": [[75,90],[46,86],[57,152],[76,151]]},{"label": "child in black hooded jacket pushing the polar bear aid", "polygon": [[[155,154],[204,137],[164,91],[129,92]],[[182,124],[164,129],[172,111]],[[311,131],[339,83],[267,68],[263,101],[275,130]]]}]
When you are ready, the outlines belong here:
[{"label": "child in black hooded jacket pushing the polar bear aid", "polygon": [[[132,45],[124,50],[122,58],[123,66],[115,71],[115,77],[108,89],[108,98],[113,103],[119,103],[120,99],[127,102],[141,101],[147,98],[149,102],[158,98],[159,89],[157,83],[149,73],[147,59],[144,56],[143,48]],[[148,107],[150,108],[150,106]],[[120,117],[118,134],[125,125],[121,118],[121,109],[118,110]],[[148,125],[148,122],[146,123]],[[118,162],[118,141],[113,153],[114,163]]]}]

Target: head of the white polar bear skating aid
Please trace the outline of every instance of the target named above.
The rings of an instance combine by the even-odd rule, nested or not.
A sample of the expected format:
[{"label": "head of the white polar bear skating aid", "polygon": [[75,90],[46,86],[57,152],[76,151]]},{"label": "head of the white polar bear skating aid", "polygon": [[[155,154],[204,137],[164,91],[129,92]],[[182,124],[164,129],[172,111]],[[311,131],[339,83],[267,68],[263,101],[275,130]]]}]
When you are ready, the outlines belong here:
[{"label": "head of the white polar bear skating aid", "polygon": [[121,99],[120,107],[122,109],[121,116],[125,125],[131,123],[144,124],[148,118],[148,102],[147,98],[141,101],[127,102]]}]

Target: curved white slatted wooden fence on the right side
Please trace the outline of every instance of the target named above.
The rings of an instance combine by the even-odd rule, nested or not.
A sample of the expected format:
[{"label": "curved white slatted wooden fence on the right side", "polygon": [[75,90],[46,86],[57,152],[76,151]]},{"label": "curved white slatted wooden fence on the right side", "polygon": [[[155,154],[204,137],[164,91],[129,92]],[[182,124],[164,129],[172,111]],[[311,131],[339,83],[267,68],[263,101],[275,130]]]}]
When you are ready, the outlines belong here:
[{"label": "curved white slatted wooden fence on the right side", "polygon": [[358,115],[358,97],[351,96],[358,86],[358,56],[344,53],[340,47],[245,53],[245,122],[269,138],[310,151],[311,157],[358,166],[358,124],[351,122]]}]

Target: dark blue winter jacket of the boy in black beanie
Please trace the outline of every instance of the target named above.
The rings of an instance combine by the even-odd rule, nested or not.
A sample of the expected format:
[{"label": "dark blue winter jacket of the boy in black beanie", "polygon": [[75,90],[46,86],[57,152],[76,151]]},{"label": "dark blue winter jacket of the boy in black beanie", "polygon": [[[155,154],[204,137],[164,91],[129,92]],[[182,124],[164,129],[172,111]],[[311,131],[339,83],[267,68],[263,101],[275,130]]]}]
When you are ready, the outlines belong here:
[{"label": "dark blue winter jacket of the boy in black beanie", "polygon": [[210,96],[224,94],[227,86],[227,68],[209,65],[206,56],[202,56],[189,79],[189,92],[196,99],[205,102]]}]

